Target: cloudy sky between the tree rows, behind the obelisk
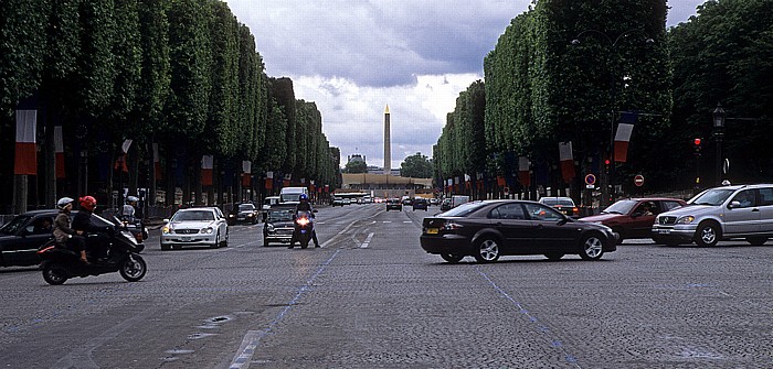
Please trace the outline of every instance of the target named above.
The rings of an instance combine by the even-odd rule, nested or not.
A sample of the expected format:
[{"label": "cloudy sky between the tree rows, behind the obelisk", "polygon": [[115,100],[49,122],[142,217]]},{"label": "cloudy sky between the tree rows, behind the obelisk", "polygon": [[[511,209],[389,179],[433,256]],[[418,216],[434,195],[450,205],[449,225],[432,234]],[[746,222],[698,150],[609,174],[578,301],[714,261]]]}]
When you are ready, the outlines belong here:
[{"label": "cloudy sky between the tree rows, behind the obelisk", "polygon": [[[272,77],[315,101],[330,144],[383,165],[389,105],[392,167],[432,156],[456,97],[483,79],[483,59],[530,0],[226,0],[255,35]],[[703,0],[669,0],[668,25]]]}]

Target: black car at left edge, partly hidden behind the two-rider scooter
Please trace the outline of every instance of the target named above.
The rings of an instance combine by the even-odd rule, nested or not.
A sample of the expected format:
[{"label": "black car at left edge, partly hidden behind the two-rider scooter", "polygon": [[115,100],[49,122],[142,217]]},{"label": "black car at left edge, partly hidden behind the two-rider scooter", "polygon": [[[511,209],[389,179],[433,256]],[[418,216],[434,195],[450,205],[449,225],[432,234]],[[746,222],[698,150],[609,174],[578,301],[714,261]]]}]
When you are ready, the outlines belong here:
[{"label": "black car at left edge, partly hidden behind the two-rider scooter", "polygon": [[33,210],[19,215],[0,228],[0,267],[40,263],[38,249],[52,238],[59,210]]}]

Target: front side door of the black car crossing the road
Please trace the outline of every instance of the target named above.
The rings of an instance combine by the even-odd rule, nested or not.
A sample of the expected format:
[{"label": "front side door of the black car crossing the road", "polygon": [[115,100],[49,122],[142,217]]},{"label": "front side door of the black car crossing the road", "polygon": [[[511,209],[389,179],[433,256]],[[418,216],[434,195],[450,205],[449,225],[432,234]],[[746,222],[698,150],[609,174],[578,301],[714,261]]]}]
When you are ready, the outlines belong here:
[{"label": "front side door of the black car crossing the road", "polygon": [[532,221],[530,249],[534,253],[565,251],[575,246],[580,230],[561,213],[542,204],[523,203],[523,207]]}]

